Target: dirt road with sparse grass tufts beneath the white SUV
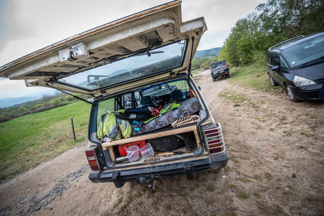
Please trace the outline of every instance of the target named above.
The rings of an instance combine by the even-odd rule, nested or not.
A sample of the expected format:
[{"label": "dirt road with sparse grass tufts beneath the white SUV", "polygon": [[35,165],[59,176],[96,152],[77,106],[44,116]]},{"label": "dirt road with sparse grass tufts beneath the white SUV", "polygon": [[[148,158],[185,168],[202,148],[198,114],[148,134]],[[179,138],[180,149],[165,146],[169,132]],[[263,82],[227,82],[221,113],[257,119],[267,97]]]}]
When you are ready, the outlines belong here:
[{"label": "dirt road with sparse grass tufts beneath the white SUV", "polygon": [[[324,215],[324,103],[292,103],[203,76],[222,124],[222,170],[147,185],[94,184],[87,143],[0,184],[1,215]],[[219,94],[222,93],[222,94]]]}]

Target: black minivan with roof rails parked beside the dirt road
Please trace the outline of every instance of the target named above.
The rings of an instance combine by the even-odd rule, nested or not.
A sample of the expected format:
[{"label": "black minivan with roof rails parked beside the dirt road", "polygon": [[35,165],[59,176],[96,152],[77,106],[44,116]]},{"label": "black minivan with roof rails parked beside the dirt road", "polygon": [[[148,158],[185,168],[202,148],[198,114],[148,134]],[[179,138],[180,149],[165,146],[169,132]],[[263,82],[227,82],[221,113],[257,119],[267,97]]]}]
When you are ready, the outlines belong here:
[{"label": "black minivan with roof rails parked beside the dirt road", "polygon": [[316,101],[324,83],[324,32],[298,36],[267,52],[273,86],[281,85],[293,102]]}]

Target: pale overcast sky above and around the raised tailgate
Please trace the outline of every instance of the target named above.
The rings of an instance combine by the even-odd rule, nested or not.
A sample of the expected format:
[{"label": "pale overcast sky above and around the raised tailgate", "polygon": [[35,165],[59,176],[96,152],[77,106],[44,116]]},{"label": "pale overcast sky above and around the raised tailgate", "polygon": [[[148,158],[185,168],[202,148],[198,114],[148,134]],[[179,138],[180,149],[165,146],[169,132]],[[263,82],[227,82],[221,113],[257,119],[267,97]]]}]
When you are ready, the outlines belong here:
[{"label": "pale overcast sky above and around the raised tailgate", "polygon": [[[168,0],[0,0],[0,66],[62,39]],[[208,30],[198,50],[222,47],[239,18],[265,0],[182,0],[182,22],[204,17]],[[0,99],[54,91],[0,78]]]}]

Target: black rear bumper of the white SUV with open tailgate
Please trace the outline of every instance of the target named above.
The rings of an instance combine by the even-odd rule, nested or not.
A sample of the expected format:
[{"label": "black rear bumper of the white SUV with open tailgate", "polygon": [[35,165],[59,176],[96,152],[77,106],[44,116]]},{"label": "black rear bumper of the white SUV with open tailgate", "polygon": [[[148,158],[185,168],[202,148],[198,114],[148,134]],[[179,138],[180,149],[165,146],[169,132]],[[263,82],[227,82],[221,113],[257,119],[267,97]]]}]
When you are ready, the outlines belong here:
[{"label": "black rear bumper of the white SUV with open tailgate", "polygon": [[122,187],[125,182],[150,179],[168,178],[178,175],[187,175],[194,179],[195,172],[225,167],[228,161],[226,151],[217,155],[202,155],[193,159],[183,158],[180,161],[171,161],[153,165],[106,169],[91,171],[89,179],[94,183],[114,182],[116,188]]}]

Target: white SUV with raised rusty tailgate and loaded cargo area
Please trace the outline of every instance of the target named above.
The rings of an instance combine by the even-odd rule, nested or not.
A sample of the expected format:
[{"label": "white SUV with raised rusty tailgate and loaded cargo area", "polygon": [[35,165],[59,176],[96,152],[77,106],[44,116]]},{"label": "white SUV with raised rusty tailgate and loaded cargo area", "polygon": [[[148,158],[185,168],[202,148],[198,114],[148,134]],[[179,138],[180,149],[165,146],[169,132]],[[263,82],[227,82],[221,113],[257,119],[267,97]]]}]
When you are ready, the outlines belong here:
[{"label": "white SUV with raised rusty tailgate and loaded cargo area", "polygon": [[[221,125],[190,76],[206,30],[203,17],[182,22],[181,1],[173,1],[40,49],[2,66],[0,75],[94,97],[85,101],[92,104],[86,150],[92,182],[193,179],[228,160]],[[127,147],[147,143],[153,156],[133,162],[125,156]]]}]

